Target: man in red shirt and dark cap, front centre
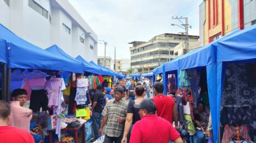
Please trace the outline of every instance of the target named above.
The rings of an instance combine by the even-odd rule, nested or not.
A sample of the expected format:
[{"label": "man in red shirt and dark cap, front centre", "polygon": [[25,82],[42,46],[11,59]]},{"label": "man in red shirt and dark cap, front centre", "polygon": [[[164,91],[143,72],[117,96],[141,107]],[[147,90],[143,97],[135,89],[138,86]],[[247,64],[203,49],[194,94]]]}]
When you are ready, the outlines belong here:
[{"label": "man in red shirt and dark cap, front centre", "polygon": [[182,143],[180,134],[167,120],[156,115],[156,105],[152,99],[143,99],[133,105],[139,109],[141,120],[132,127],[130,143],[168,142]]}]

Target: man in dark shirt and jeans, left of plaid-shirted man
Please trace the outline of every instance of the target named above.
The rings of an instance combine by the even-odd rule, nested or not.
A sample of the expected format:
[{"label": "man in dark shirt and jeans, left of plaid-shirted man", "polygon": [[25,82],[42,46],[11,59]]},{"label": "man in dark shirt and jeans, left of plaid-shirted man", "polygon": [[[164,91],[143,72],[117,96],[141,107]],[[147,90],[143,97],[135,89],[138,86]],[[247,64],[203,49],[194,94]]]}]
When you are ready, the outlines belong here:
[{"label": "man in dark shirt and jeans, left of plaid-shirted man", "polygon": [[93,116],[92,116],[92,127],[93,127],[93,133],[94,133],[94,139],[92,139],[90,142],[94,142],[95,140],[97,140],[97,138],[99,138],[99,128],[100,128],[100,123],[102,120],[102,104],[103,104],[103,98],[104,95],[101,92],[102,89],[102,85],[97,85],[96,87],[96,92],[93,96],[93,105],[92,105],[92,112],[93,112]]}]

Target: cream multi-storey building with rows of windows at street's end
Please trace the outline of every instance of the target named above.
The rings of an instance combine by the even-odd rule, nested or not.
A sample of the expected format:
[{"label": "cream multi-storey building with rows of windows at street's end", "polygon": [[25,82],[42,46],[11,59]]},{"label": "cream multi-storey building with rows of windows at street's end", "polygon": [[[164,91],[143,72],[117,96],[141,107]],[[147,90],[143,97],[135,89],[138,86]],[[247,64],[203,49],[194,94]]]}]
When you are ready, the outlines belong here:
[{"label": "cream multi-storey building with rows of windows at street's end", "polygon": [[[188,36],[188,41],[198,41],[199,36]],[[186,40],[185,32],[162,34],[149,42],[133,41],[130,47],[133,73],[149,73],[161,64],[174,59],[174,47]]]}]

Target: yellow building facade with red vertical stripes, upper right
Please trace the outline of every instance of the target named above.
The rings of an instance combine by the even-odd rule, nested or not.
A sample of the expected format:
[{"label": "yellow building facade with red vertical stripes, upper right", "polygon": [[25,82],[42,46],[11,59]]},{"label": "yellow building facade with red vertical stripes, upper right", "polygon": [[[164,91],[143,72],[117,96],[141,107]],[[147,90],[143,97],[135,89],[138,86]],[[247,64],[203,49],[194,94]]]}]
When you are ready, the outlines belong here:
[{"label": "yellow building facade with red vertical stripes, upper right", "polygon": [[256,23],[255,0],[205,0],[200,8],[200,45]]}]

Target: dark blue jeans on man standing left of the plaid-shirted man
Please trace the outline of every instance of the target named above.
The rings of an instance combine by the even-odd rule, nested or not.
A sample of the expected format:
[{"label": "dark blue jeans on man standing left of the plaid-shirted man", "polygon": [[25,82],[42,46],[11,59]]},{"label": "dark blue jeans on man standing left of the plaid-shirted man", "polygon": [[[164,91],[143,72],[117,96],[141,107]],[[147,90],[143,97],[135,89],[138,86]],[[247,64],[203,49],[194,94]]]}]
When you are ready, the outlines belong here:
[{"label": "dark blue jeans on man standing left of the plaid-shirted man", "polygon": [[94,138],[99,138],[99,129],[100,129],[100,125],[101,125],[101,120],[102,120],[102,114],[101,113],[97,113],[97,112],[93,112],[93,134],[94,134]]}]

